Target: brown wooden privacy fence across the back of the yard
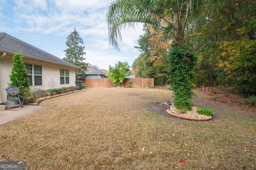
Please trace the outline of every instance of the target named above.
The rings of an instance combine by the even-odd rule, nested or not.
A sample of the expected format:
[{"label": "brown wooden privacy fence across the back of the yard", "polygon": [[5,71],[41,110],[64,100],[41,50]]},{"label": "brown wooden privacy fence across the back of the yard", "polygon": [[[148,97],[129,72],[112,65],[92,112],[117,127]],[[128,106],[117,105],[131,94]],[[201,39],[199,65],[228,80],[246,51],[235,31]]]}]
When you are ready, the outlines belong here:
[{"label": "brown wooden privacy fence across the back of the yard", "polygon": [[[123,82],[124,87],[129,87],[129,82],[132,81],[133,88],[146,88],[146,87],[154,87],[154,79],[142,79],[142,78],[125,78]],[[85,78],[83,79],[83,85],[88,88],[94,87],[115,87],[114,83],[109,78]]]}]

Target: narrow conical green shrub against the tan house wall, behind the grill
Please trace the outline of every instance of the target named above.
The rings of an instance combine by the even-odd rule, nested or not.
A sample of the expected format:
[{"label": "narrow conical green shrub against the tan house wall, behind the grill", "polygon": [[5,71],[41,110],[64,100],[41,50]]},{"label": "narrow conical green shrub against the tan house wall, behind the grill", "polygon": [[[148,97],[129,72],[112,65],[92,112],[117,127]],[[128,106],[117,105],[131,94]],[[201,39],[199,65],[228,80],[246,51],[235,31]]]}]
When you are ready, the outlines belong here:
[{"label": "narrow conical green shrub against the tan house wall, behind the grill", "polygon": [[12,72],[10,74],[10,86],[17,86],[20,89],[20,98],[23,99],[25,92],[29,90],[28,73],[22,61],[22,54],[15,53],[13,58]]}]

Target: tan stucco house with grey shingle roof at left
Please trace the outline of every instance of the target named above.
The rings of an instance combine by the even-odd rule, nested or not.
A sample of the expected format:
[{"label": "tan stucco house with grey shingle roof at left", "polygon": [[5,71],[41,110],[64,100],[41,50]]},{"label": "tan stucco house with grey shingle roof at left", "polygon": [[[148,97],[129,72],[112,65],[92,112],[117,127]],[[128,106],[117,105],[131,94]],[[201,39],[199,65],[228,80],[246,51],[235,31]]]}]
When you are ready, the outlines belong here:
[{"label": "tan stucco house with grey shingle roof at left", "polygon": [[6,101],[6,91],[10,83],[12,57],[21,52],[28,71],[30,88],[52,89],[75,86],[76,69],[61,58],[25,43],[7,33],[0,33],[0,103]]}]

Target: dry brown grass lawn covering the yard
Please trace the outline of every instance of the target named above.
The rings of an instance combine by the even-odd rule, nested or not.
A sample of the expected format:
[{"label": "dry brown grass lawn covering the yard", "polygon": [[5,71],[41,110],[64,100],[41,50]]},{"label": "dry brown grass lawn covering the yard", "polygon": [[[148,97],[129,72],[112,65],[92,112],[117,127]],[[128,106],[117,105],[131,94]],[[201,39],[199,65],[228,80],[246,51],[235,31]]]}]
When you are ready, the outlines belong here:
[{"label": "dry brown grass lawn covering the yard", "polygon": [[91,88],[43,101],[43,111],[0,125],[0,157],[26,161],[27,169],[255,169],[254,117],[200,98],[195,104],[220,112],[219,120],[147,111],[170,97],[160,89]]}]

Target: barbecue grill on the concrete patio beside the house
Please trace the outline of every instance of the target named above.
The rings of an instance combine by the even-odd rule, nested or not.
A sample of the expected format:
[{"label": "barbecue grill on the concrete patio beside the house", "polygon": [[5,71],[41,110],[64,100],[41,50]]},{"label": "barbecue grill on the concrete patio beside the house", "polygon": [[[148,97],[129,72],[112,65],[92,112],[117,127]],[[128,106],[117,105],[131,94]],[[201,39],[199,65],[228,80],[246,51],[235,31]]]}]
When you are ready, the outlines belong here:
[{"label": "barbecue grill on the concrete patio beside the house", "polygon": [[20,102],[20,95],[19,95],[19,88],[16,86],[9,86],[6,89],[7,92],[7,99],[5,104],[5,110],[10,106],[20,106],[23,107],[22,103]]}]

